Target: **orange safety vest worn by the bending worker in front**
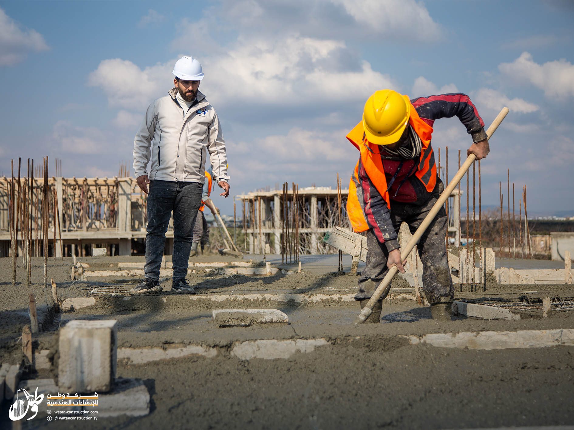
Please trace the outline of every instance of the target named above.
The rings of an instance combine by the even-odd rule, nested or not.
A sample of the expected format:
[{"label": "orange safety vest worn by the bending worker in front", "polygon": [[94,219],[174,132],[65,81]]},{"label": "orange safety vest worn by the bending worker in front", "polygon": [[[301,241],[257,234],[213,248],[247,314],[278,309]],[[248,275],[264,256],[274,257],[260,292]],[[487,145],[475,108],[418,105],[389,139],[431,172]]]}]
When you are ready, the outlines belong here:
[{"label": "orange safety vest worn by the bending worker in front", "polygon": [[[421,138],[422,142],[421,156],[418,159],[418,166],[415,175],[418,179],[420,179],[426,190],[430,193],[433,189],[435,189],[437,178],[435,155],[433,154],[432,147],[430,146],[432,127],[430,127],[429,124],[425,123],[420,118],[420,116],[418,116],[418,112],[412,103],[410,103],[409,97],[403,97],[405,97],[410,106],[409,124],[414,128],[414,131]],[[373,185],[385,199],[390,209],[391,202],[389,193],[387,191],[387,179],[380,155],[381,146],[370,143],[367,139],[364,138],[363,122],[358,123],[355,128],[349,132],[347,139],[360,151],[360,161],[363,163],[363,167],[367,173],[367,176],[369,176],[373,182]],[[369,230],[370,228],[364,215],[364,202],[362,192],[360,192],[359,201],[359,194],[357,190],[359,183],[359,162],[357,162],[355,171],[349,183],[347,214],[353,230],[358,233]]]}]

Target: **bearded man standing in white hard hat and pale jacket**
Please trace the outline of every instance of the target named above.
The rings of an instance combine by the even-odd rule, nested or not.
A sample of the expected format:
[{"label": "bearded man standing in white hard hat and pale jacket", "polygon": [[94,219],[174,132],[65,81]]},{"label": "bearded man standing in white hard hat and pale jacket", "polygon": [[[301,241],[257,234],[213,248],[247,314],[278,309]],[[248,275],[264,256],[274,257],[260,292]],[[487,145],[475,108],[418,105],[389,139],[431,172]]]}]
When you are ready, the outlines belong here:
[{"label": "bearded man standing in white hard hat and pale jacket", "polygon": [[[165,233],[173,212],[172,291],[193,292],[187,276],[193,225],[201,206],[205,162],[214,179],[229,195],[225,142],[214,107],[198,91],[201,64],[181,57],[173,68],[174,88],[149,105],[134,139],[134,172],[138,186],[148,193],[145,279],[131,294],[160,292],[161,258]],[[209,158],[208,158],[209,157]],[[149,163],[149,170],[148,170]]]}]

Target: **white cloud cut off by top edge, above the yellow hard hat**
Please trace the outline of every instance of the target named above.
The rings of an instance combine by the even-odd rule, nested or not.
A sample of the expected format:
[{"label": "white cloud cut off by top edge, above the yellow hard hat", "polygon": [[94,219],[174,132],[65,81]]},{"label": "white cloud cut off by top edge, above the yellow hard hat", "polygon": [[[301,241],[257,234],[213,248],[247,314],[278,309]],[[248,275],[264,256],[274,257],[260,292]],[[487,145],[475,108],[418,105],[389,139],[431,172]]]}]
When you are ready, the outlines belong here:
[{"label": "white cloud cut off by top edge, above the yellow hard hat", "polygon": [[414,0],[333,0],[369,31],[395,40],[436,41],[443,31],[429,11]]}]

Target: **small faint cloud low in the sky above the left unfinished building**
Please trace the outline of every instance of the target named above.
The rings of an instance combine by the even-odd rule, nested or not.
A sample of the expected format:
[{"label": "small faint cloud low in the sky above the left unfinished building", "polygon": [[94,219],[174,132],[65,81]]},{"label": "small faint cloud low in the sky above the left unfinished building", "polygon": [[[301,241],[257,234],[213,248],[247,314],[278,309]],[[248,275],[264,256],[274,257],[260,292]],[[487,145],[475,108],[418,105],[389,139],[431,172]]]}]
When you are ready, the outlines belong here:
[{"label": "small faint cloud low in the sky above the left unfinished building", "polygon": [[64,153],[99,154],[108,143],[108,139],[98,128],[77,127],[68,121],[57,122],[52,136]]}]

